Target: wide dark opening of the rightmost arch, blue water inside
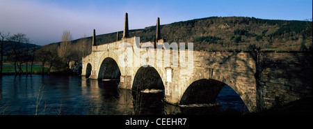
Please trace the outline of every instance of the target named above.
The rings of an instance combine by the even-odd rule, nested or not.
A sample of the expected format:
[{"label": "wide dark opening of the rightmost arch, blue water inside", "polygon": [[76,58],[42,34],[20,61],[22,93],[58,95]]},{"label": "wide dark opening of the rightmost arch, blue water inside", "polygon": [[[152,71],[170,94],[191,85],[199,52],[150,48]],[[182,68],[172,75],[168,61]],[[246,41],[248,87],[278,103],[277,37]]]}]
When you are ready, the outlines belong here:
[{"label": "wide dark opening of the rightmost arch, blue water inside", "polygon": [[218,112],[223,110],[230,114],[249,112],[246,103],[243,102],[239,94],[224,82],[216,79],[198,79],[191,83],[179,104],[217,104],[216,106],[220,106]]}]

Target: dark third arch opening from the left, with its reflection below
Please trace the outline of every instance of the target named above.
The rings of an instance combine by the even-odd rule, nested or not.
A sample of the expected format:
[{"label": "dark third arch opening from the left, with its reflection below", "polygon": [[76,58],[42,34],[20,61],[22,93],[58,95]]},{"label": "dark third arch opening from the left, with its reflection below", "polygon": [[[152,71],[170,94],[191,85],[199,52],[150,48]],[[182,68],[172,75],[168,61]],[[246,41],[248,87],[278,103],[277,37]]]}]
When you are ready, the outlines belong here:
[{"label": "dark third arch opening from the left, with its reflection below", "polygon": [[164,85],[155,68],[152,66],[139,68],[131,90],[135,114],[162,114]]}]

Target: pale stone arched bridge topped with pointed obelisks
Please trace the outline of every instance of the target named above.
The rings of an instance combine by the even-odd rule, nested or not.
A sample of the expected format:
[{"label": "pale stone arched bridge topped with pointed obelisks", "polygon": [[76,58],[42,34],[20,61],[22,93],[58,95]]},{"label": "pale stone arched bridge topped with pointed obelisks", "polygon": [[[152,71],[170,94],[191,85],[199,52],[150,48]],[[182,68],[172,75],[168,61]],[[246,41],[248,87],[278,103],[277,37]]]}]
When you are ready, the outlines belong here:
[{"label": "pale stone arched bridge topped with pointed obelisks", "polygon": [[250,112],[312,97],[309,52],[204,52],[189,46],[169,50],[159,30],[158,18],[155,43],[129,38],[127,14],[122,40],[97,45],[94,30],[92,53],[83,57],[82,75],[120,79],[123,89],[164,89],[164,100],[175,105],[215,100],[225,84]]}]

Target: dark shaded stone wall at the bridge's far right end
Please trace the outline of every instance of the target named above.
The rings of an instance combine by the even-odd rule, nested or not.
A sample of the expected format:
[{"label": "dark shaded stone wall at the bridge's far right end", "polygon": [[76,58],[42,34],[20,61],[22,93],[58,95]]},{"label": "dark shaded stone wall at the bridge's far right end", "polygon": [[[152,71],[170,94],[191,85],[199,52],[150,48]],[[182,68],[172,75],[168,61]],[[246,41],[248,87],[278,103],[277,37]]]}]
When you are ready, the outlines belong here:
[{"label": "dark shaded stone wall at the bridge's far right end", "polygon": [[312,53],[260,52],[259,110],[312,97]]}]

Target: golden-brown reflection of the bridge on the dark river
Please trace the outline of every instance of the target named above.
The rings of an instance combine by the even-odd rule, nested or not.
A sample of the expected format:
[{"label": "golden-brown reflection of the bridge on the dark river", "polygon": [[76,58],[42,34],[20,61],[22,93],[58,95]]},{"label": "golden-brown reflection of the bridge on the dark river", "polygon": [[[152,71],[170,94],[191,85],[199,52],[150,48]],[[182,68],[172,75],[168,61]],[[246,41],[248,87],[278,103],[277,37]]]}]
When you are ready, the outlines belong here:
[{"label": "golden-brown reflection of the bridge on the dark river", "polygon": [[118,81],[102,82],[84,77],[81,86],[95,87],[90,89],[93,91],[86,92],[92,94],[88,95],[92,98],[88,114],[173,114],[179,111],[179,107],[163,103],[163,92],[142,93],[118,89]]}]

